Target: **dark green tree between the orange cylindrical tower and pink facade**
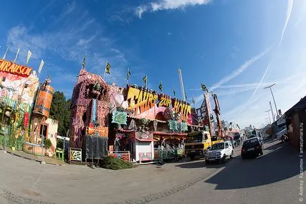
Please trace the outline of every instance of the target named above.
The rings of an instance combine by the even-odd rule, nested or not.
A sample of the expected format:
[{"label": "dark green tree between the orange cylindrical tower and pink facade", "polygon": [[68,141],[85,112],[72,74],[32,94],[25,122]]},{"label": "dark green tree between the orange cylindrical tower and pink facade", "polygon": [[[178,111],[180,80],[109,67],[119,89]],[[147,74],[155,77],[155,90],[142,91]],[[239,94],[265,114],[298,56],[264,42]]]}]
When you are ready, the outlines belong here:
[{"label": "dark green tree between the orange cylindrical tower and pink facade", "polygon": [[50,118],[59,121],[59,128],[57,131],[59,136],[66,136],[66,133],[70,127],[70,104],[71,99],[66,100],[63,92],[54,92],[50,109]]}]

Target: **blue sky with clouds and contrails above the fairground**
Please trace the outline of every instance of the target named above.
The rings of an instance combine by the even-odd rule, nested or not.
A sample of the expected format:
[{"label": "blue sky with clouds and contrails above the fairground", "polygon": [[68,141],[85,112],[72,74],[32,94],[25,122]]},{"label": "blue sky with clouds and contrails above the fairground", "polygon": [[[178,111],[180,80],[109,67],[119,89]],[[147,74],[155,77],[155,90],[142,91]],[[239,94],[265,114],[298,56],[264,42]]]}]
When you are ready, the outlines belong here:
[{"label": "blue sky with clouds and contrails above the fairground", "polygon": [[[283,112],[306,95],[306,2],[302,0],[5,1],[0,13],[0,56],[21,48],[18,63],[45,65],[56,90],[71,97],[87,54],[88,71],[106,81],[142,84],[180,94],[182,69],[189,101],[202,102],[200,84],[219,95],[221,119],[240,126],[267,123],[265,85]],[[213,104],[214,107],[214,104]],[[275,110],[274,110],[275,113]]]}]

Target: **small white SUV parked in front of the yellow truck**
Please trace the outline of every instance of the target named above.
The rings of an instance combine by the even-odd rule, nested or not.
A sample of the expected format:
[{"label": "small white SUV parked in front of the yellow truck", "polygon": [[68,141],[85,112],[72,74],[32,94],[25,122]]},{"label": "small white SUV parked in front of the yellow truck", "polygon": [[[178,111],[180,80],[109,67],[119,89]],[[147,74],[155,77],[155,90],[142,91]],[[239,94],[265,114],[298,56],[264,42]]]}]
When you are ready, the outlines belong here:
[{"label": "small white SUV parked in front of the yellow truck", "polygon": [[219,142],[212,145],[212,148],[205,154],[205,162],[225,162],[226,157],[233,158],[234,151],[231,141]]}]

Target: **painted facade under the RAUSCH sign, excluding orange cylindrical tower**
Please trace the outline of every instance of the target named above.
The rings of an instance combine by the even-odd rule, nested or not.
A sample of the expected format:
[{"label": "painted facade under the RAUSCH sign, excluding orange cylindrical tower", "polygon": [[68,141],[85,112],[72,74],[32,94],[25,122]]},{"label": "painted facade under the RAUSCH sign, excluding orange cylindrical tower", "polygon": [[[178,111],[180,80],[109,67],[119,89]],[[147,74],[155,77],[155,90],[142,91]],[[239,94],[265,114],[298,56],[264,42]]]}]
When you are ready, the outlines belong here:
[{"label": "painted facade under the RAUSCH sign, excluding orange cylindrical tower", "polygon": [[38,86],[39,80],[32,68],[0,59],[0,119],[2,143],[5,145],[22,148],[19,140],[29,128]]}]

